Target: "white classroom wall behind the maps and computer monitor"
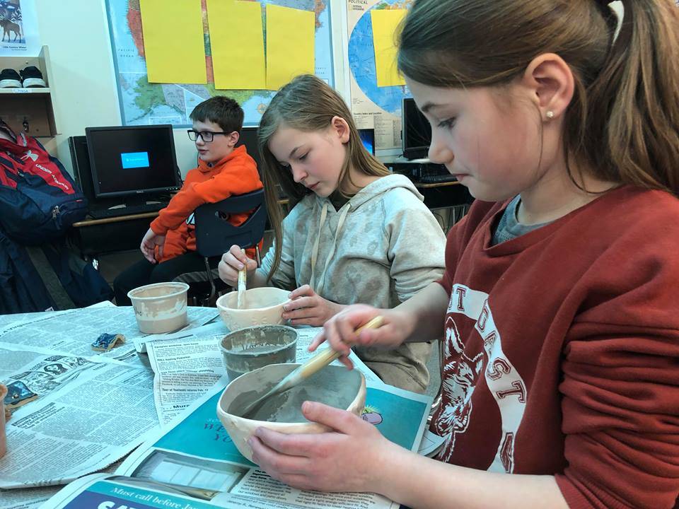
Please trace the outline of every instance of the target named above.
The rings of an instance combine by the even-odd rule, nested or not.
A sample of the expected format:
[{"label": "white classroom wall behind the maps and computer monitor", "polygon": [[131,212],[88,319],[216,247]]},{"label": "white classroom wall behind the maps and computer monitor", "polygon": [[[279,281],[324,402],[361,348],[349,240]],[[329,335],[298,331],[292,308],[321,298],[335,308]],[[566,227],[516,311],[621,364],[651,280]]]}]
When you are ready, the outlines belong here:
[{"label": "white classroom wall behind the maps and computer monitor", "polygon": [[[169,0],[168,0],[169,1]],[[346,45],[344,0],[330,0],[335,45],[337,89],[349,101],[348,63],[342,52]],[[42,139],[72,173],[69,136],[85,134],[86,127],[120,125],[108,17],[104,0],[35,0],[38,28],[43,45],[50,51],[54,88],[52,102],[59,135]],[[344,25],[342,25],[344,23]],[[347,85],[345,85],[345,81]],[[186,129],[175,129],[175,151],[182,175],[196,165],[195,145]]]}]

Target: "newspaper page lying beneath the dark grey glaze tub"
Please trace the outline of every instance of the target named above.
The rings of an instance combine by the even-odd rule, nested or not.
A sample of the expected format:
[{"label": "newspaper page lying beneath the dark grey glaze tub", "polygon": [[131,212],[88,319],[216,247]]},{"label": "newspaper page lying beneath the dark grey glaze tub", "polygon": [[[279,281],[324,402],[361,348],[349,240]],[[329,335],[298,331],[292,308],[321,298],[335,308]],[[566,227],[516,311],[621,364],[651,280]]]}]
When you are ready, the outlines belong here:
[{"label": "newspaper page lying beneath the dark grey glaze tub", "polygon": [[[314,355],[308,351],[311,340],[322,327],[297,329],[298,363]],[[227,380],[219,341],[226,334],[221,322],[198,327],[173,339],[146,342],[146,353],[155,373],[153,394],[161,426],[167,426],[205,394],[220,379]],[[378,376],[355,353],[349,358],[366,381],[380,382]],[[342,365],[340,361],[333,364]]]}]

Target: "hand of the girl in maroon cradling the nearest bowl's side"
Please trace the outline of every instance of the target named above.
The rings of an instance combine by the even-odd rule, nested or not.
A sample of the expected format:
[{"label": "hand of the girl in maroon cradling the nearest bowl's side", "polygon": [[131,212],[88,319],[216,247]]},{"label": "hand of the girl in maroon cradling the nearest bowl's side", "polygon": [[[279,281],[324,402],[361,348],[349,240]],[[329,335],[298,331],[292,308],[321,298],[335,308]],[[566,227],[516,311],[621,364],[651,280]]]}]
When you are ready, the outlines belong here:
[{"label": "hand of the girl in maroon cradling the nearest bowl's side", "polygon": [[248,443],[253,461],[274,479],[305,490],[374,491],[381,465],[395,461],[401,447],[349,411],[305,402],[306,419],[328,433],[286,435],[257,428]]}]

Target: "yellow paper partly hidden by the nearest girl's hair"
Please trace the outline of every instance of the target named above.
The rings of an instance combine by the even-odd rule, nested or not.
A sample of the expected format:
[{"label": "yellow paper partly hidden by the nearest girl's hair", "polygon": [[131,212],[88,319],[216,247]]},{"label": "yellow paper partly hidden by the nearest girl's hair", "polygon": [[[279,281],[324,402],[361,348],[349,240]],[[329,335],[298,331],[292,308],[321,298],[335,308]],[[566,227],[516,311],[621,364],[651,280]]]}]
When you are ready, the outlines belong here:
[{"label": "yellow paper partly hidden by the nearest girl's hair", "polygon": [[406,9],[373,9],[370,11],[378,87],[405,85],[405,80],[396,66],[396,33],[406,13]]}]

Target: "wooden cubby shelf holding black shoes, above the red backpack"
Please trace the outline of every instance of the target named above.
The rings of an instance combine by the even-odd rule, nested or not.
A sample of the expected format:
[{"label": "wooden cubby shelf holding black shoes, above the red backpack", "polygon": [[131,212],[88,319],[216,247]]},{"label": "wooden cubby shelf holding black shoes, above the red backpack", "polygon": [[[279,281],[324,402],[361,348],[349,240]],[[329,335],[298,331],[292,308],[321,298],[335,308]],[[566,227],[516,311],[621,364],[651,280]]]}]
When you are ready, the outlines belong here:
[{"label": "wooden cubby shelf holding black shoes, above the red backpack", "polygon": [[[0,88],[0,118],[17,134],[29,136],[55,136],[59,134],[54,119],[54,86],[50,84],[52,71],[50,53],[43,46],[37,57],[0,57],[0,69],[15,69],[36,66],[45,80],[45,88]],[[28,129],[25,126],[28,125]]]}]

